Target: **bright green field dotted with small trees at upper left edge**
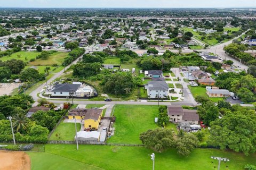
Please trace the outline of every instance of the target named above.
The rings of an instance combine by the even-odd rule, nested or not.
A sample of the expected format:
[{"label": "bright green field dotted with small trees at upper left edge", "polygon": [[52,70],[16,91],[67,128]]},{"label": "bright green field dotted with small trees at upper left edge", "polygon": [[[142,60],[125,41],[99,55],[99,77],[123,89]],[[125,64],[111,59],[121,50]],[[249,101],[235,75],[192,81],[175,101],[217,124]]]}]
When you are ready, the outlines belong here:
[{"label": "bright green field dotted with small trees at upper left edge", "polygon": [[[12,59],[17,59],[17,60],[22,60],[24,62],[29,62],[29,60],[31,58],[36,58],[36,56],[38,56],[39,52],[25,52],[25,51],[21,51],[21,52],[17,52],[17,53],[13,53],[11,56],[4,56],[1,57],[0,60],[2,60],[3,62],[7,61],[7,60],[12,60]],[[25,58],[27,57],[27,60],[25,60]]]}]

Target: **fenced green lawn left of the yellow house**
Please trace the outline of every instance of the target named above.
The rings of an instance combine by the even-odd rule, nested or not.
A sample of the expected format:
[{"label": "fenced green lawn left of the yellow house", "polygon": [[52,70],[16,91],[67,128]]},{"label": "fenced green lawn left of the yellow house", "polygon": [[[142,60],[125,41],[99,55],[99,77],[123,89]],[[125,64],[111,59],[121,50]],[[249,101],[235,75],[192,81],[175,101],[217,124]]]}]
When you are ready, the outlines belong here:
[{"label": "fenced green lawn left of the yellow house", "polygon": [[[77,131],[81,129],[81,124],[76,123]],[[58,135],[58,136],[57,136]],[[70,140],[74,141],[76,135],[75,123],[61,122],[57,129],[52,133],[49,140]]]}]

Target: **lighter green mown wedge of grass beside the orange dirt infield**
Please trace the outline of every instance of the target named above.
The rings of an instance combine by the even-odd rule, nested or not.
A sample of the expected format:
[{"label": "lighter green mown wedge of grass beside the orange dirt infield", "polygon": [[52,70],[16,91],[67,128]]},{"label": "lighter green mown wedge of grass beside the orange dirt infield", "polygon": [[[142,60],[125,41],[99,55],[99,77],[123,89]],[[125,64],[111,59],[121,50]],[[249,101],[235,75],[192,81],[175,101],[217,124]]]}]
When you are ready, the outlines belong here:
[{"label": "lighter green mown wedge of grass beside the orange dirt infield", "polygon": [[76,170],[98,170],[98,168],[92,165],[88,165],[76,160],[62,157],[61,155],[54,155],[45,152],[27,152],[31,160],[31,169],[35,170],[63,170],[63,169],[76,169]]}]

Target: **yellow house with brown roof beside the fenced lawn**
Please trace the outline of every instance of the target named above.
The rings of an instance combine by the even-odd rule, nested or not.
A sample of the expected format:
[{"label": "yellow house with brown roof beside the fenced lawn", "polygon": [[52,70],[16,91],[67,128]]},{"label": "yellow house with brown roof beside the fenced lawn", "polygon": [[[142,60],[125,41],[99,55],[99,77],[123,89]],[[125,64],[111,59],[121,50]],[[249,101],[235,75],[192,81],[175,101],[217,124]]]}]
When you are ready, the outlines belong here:
[{"label": "yellow house with brown roof beside the fenced lawn", "polygon": [[72,109],[68,113],[68,118],[81,120],[81,124],[84,125],[84,129],[95,128],[98,129],[101,120],[103,110],[102,109]]}]

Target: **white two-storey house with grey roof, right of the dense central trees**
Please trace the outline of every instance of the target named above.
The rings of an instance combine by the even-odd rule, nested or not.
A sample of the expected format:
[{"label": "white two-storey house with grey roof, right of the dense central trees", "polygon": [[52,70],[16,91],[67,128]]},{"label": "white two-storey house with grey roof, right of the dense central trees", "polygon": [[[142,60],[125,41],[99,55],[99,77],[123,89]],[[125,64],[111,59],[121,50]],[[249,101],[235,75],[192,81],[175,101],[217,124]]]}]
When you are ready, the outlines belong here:
[{"label": "white two-storey house with grey roof, right of the dense central trees", "polygon": [[166,98],[169,86],[164,81],[149,81],[148,84],[145,84],[145,89],[149,98]]}]

